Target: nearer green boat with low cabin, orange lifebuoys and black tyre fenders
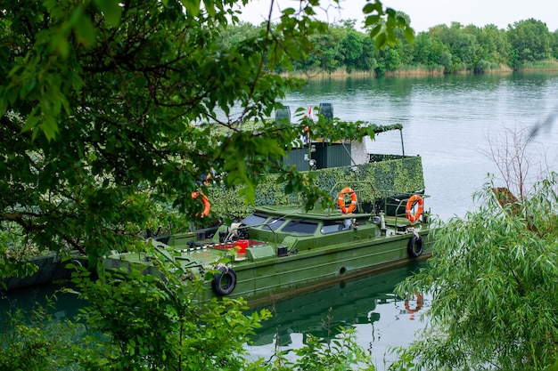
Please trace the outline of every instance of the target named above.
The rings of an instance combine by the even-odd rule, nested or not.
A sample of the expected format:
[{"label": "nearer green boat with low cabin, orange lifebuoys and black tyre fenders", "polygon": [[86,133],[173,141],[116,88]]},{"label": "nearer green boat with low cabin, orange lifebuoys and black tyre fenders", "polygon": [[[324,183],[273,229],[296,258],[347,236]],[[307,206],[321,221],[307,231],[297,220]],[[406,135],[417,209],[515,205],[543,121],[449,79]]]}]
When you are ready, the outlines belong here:
[{"label": "nearer green boat with low cabin, orange lifebuoys and black tyre fenders", "polygon": [[[365,212],[357,185],[337,195],[338,207],[258,206],[241,222],[219,227],[211,239],[192,233],[152,238],[168,260],[205,282],[201,301],[243,297],[251,304],[270,294],[295,294],[334,280],[414,262],[431,255],[431,218],[423,193],[376,199]],[[144,267],[158,274],[147,253],[111,254],[108,270]]]}]

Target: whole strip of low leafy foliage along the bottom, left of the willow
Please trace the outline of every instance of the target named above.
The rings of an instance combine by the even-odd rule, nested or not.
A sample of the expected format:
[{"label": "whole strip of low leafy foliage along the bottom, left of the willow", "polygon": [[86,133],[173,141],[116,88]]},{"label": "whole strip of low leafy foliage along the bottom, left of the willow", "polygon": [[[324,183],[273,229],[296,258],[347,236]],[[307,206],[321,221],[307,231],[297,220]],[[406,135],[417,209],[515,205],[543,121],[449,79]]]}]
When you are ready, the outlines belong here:
[{"label": "whole strip of low leafy foliage along the bottom, left of the willow", "polygon": [[[226,298],[194,311],[186,299],[191,296],[185,296],[185,301],[171,299],[170,293],[179,286],[163,284],[153,291],[148,284],[149,290],[144,290],[152,278],[136,277],[135,273],[115,274],[112,278],[118,278],[113,282],[116,286],[126,286],[126,289],[121,293],[114,287],[116,297],[110,298],[104,296],[111,294],[111,290],[106,290],[110,286],[89,287],[86,291],[92,295],[94,310],[83,311],[86,327],[81,322],[52,319],[45,314],[46,307],[34,311],[30,323],[21,311],[3,319],[0,369],[375,369],[369,352],[358,345],[355,329],[344,327],[332,338],[309,335],[305,346],[294,350],[294,360],[281,350],[276,350],[270,361],[248,360],[242,349],[244,342],[248,342],[246,336],[268,318],[268,311],[246,317],[241,312],[242,301]],[[142,282],[142,278],[146,280]],[[80,278],[77,280],[81,282]],[[96,297],[97,294],[103,296]],[[190,309],[179,312],[179,302]],[[191,315],[200,318],[189,319]],[[110,327],[105,327],[107,322],[111,323]],[[200,327],[193,326],[198,323]]]}]

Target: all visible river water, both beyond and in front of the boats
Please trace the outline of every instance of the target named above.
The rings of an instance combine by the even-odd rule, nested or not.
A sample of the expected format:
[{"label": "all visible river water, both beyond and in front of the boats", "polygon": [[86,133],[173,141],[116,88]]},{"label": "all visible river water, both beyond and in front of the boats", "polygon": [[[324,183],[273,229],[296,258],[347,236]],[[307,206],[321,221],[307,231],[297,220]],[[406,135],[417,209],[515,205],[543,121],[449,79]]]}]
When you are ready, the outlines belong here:
[{"label": "all visible river water, both beyond and in front of the boats", "polygon": [[[404,125],[406,155],[423,157],[426,194],[431,196],[426,206],[446,221],[452,216],[464,217],[477,207],[472,194],[488,180],[488,173],[496,175],[496,186],[505,185],[487,151],[502,148],[505,141],[513,142],[511,133],[548,121],[558,112],[557,97],[558,73],[521,73],[320,79],[303,92],[288,95],[283,103],[294,112],[330,102],[334,115],[342,120]],[[538,175],[541,164],[558,170],[557,144],[558,122],[550,120],[526,148],[531,157],[530,176]],[[398,134],[379,134],[367,145],[374,153],[401,152]],[[268,358],[276,347],[300,348],[308,334],[326,336],[328,328],[352,326],[358,343],[372,352],[377,369],[385,369],[384,359],[388,364],[394,359],[390,347],[410,343],[425,326],[419,314],[428,308],[430,298],[423,298],[419,305],[416,298],[405,302],[391,294],[416,268],[337,283],[275,303],[271,307],[275,318],[254,337],[250,354]],[[20,302],[18,306],[29,307],[30,297],[40,298],[49,291],[52,287],[45,286],[9,296]],[[72,317],[81,304],[65,298],[59,301],[55,317]],[[4,315],[8,299],[0,299],[0,305],[0,315]]]}]

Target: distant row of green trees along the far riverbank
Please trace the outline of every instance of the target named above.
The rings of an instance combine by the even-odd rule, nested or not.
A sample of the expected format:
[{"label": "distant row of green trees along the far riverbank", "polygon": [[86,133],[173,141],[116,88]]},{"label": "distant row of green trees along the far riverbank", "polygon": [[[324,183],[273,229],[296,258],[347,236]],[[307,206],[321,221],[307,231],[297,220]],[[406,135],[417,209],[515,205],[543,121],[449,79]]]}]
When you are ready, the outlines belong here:
[{"label": "distant row of green trees along the far riverbank", "polygon": [[[404,16],[406,16],[404,14]],[[407,20],[408,20],[408,16]],[[550,32],[540,20],[521,20],[507,29],[496,25],[463,26],[453,22],[420,32],[409,43],[401,35],[398,44],[377,50],[374,40],[357,31],[356,20],[330,25],[327,35],[310,36],[315,51],[293,60],[289,72],[347,73],[364,71],[378,76],[419,71],[423,73],[482,73],[502,69],[558,69],[558,30]],[[242,23],[227,28],[223,43],[257,36],[264,25]],[[286,72],[281,66],[277,73]]]}]

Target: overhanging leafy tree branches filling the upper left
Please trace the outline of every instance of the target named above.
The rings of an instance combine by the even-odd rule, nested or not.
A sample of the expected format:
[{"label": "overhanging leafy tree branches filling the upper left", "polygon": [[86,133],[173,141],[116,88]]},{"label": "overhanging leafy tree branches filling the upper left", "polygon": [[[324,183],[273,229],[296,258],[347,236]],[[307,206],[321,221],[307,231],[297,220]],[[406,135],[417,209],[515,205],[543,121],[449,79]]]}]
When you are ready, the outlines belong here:
[{"label": "overhanging leafy tree branches filling the upper left", "polygon": [[[304,82],[270,71],[289,69],[311,51],[309,36],[328,32],[310,3],[230,42],[235,5],[6,4],[0,228],[16,223],[39,253],[77,249],[96,264],[144,230],[203,222],[191,194],[208,193],[198,181],[211,168],[253,203],[265,174],[286,170],[277,164],[300,133],[266,118]],[[358,136],[352,124],[315,130]],[[287,177],[291,192],[324,196],[299,173]]]}]

